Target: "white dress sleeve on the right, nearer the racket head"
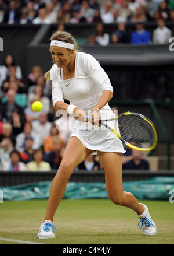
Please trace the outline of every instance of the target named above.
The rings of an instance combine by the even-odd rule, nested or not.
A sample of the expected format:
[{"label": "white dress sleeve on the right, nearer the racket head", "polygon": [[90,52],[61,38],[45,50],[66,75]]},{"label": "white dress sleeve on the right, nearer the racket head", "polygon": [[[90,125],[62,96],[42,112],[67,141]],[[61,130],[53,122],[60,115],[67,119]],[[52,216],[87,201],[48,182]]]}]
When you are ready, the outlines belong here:
[{"label": "white dress sleeve on the right, nearer the racket head", "polygon": [[92,55],[86,54],[84,58],[85,70],[88,76],[99,86],[101,92],[104,90],[110,90],[113,92],[113,86],[111,86],[110,79],[108,75],[100,66],[99,61],[97,61]]}]

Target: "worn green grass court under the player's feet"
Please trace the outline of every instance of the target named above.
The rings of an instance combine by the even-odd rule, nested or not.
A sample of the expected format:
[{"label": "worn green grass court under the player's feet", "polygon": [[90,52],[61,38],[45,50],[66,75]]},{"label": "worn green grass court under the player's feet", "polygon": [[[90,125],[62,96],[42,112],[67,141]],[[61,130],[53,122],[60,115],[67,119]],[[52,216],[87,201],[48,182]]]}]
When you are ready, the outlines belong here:
[{"label": "worn green grass court under the player's feet", "polygon": [[173,244],[174,204],[141,202],[148,206],[157,225],[156,236],[144,236],[137,226],[136,213],[109,199],[63,199],[54,219],[56,239],[40,240],[37,233],[47,200],[4,201],[0,204],[0,244],[22,244],[13,240],[44,244]]}]

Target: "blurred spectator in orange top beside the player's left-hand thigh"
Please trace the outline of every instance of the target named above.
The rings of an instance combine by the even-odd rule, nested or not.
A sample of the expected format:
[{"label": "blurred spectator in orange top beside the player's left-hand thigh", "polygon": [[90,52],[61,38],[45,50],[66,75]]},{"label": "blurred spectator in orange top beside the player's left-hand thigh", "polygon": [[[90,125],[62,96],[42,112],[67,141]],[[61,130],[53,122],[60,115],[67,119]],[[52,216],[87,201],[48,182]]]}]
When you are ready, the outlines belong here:
[{"label": "blurred spectator in orange top beside the player's left-hand thigh", "polygon": [[49,153],[53,150],[53,141],[55,138],[60,138],[62,141],[62,146],[64,145],[63,139],[59,135],[59,130],[56,128],[56,125],[54,124],[52,126],[52,129],[50,131],[50,135],[46,136],[44,140],[44,152]]}]

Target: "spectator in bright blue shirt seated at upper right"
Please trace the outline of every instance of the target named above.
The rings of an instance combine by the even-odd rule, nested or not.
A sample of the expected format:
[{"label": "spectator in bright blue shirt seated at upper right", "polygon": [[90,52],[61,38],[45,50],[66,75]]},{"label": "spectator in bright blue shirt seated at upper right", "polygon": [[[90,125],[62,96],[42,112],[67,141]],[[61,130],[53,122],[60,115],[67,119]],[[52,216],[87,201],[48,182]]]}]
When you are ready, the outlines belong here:
[{"label": "spectator in bright blue shirt seated at upper right", "polygon": [[150,44],[151,34],[150,32],[144,30],[144,23],[139,20],[136,23],[136,31],[131,33],[131,43],[132,44]]}]

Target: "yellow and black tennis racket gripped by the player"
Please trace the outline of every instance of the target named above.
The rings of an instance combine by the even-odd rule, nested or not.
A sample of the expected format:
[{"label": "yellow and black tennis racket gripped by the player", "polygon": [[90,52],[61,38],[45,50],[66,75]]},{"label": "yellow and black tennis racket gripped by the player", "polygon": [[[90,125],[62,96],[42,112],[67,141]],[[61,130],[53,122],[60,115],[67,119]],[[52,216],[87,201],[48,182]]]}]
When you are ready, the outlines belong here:
[{"label": "yellow and black tennis racket gripped by the player", "polygon": [[[86,115],[86,118],[89,121],[92,117]],[[108,121],[112,120],[115,120],[115,129],[107,124]],[[111,119],[99,119],[99,124],[110,129],[129,148],[150,151],[157,146],[157,129],[154,123],[142,114],[128,111]]]}]

